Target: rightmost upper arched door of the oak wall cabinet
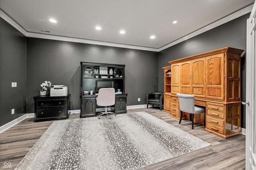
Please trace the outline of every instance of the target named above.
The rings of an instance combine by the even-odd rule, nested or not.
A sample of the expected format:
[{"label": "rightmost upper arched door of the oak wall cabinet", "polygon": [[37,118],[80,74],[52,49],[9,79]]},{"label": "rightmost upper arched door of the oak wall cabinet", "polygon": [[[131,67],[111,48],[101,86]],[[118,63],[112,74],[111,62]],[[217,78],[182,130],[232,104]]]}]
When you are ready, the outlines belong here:
[{"label": "rightmost upper arched door of the oak wall cabinet", "polygon": [[206,57],[206,97],[224,99],[224,54]]}]

